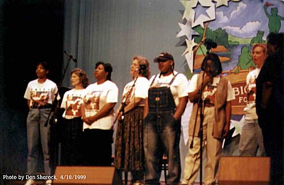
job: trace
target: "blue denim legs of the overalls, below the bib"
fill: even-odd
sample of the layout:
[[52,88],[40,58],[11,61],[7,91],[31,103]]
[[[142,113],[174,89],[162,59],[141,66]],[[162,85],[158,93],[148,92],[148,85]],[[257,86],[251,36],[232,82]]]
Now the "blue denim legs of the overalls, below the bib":
[[149,112],[143,124],[146,185],[160,185],[164,154],[168,158],[167,185],[177,185],[181,177],[180,120],[173,118],[172,111]]

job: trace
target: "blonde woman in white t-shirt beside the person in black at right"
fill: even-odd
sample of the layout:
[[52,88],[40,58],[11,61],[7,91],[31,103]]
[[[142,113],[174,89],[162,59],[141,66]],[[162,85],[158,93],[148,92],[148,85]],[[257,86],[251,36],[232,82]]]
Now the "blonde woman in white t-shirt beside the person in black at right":
[[244,108],[245,120],[241,129],[238,149],[240,156],[257,156],[257,153],[260,156],[265,156],[263,136],[256,110],[256,81],[266,59],[266,44],[254,44],[252,55],[257,67],[246,77],[247,105]]

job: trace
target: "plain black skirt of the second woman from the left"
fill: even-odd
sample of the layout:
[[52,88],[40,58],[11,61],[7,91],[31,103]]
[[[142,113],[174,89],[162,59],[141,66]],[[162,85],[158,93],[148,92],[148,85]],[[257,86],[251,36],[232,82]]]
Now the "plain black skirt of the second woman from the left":
[[61,143],[61,165],[79,165],[81,161],[81,137],[83,121],[81,118],[63,119]]

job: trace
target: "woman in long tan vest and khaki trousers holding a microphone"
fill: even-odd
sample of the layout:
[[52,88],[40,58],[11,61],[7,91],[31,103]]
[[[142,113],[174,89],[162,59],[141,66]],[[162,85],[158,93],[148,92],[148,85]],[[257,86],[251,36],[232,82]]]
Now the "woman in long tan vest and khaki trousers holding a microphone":
[[[218,174],[222,139],[226,137],[231,122],[231,101],[235,93],[230,81],[221,75],[219,57],[208,54],[201,66],[200,74],[195,74],[189,83],[189,101],[193,103],[189,119],[189,154],[185,159],[182,185],[193,185],[200,166],[200,113],[203,114],[203,142],[206,147],[205,185],[213,185]],[[203,82],[202,82],[203,81]],[[198,107],[201,92],[203,108]],[[196,118],[197,117],[197,118]],[[192,143],[193,142],[193,143]]]

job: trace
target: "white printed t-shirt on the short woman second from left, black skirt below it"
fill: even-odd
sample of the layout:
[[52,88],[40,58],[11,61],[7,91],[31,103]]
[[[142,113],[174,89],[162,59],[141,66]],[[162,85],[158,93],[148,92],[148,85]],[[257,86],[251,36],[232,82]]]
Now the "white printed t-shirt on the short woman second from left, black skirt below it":
[[80,107],[85,94],[85,89],[71,89],[64,94],[61,103],[61,108],[65,109],[62,115],[63,118],[73,119],[82,116]]

